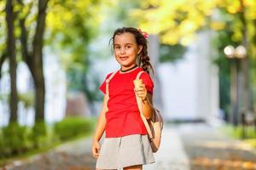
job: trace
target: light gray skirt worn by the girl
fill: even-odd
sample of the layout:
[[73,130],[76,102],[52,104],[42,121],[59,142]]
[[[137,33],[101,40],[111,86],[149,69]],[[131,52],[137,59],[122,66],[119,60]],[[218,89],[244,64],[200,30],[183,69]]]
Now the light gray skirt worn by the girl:
[[97,169],[119,169],[133,165],[154,163],[148,135],[132,134],[119,138],[106,138],[102,143]]

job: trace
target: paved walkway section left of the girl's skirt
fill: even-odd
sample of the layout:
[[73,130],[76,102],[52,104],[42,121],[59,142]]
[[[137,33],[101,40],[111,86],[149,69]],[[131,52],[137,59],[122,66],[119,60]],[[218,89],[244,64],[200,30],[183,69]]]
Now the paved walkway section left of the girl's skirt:
[[32,156],[15,161],[0,170],[91,170],[96,160],[90,155],[91,139],[79,139]]

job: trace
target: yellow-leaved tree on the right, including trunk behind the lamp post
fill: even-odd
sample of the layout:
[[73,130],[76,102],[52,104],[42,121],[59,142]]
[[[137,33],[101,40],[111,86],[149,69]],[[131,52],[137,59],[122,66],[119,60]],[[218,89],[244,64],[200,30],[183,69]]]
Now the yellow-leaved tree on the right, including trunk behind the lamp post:
[[142,9],[135,10],[133,15],[140,16],[140,26],[150,33],[159,34],[163,43],[187,45],[194,40],[197,31],[207,28],[230,32],[230,40],[233,43],[243,44],[248,55],[247,59],[241,61],[242,75],[245,79],[242,83],[241,91],[244,94],[240,108],[252,109],[253,102],[249,95],[249,71],[252,71],[252,68],[248,63],[255,60],[256,56],[255,1],[148,0],[143,1],[141,5]]

